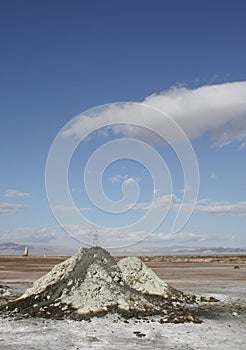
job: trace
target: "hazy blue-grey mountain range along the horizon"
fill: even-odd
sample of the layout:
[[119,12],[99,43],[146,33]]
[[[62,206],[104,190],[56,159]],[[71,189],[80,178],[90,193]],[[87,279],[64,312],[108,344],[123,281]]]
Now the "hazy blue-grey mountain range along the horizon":
[[[29,255],[72,255],[78,247],[64,247],[51,245],[28,245],[18,243],[0,244],[0,255],[23,255],[25,247],[29,249]],[[172,256],[209,256],[209,255],[246,255],[246,248],[224,248],[224,247],[138,247],[131,246],[121,249],[110,249],[113,255],[172,255]]]

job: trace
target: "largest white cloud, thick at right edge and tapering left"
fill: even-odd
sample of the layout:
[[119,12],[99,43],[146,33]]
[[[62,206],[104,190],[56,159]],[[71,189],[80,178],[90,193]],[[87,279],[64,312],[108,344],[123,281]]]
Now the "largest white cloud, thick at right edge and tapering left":
[[[129,123],[129,115],[135,115],[139,124],[153,125],[157,130],[165,128],[165,118],[159,114],[152,118],[151,110],[139,105],[149,105],[168,114],[184,129],[189,138],[200,137],[206,131],[218,146],[231,142],[246,141],[246,81],[202,86],[197,89],[174,87],[169,91],[153,94],[138,104],[116,105],[98,112],[93,117],[79,116],[75,122],[63,132],[63,136],[84,136],[92,129],[107,123],[115,124],[111,129],[123,133],[127,137],[137,137],[151,142],[157,141],[154,134]],[[136,120],[136,119],[135,119]],[[177,135],[173,135],[177,137]],[[158,139],[160,142],[160,139]],[[175,141],[175,140],[173,140]]]

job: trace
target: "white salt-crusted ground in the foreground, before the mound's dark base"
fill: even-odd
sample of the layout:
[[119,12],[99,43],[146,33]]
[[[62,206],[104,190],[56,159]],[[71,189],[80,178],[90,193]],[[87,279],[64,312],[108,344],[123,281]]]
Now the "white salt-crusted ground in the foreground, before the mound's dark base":
[[91,322],[0,318],[0,349],[245,349],[245,314],[204,318],[202,324],[160,324],[133,319],[128,322],[114,315],[93,318]]

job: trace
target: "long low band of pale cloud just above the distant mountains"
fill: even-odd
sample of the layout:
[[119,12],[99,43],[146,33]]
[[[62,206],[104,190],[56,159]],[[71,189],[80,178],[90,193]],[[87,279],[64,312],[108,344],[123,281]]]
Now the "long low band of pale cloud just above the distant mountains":
[[[142,242],[143,244],[159,245],[179,245],[186,243],[200,242],[225,242],[235,240],[237,237],[225,234],[206,234],[194,232],[181,233],[152,233],[147,235],[143,231],[124,230],[119,232],[117,229],[84,229],[76,225],[68,225],[68,228],[73,230],[74,236],[80,239],[85,244],[93,244],[95,235],[97,236],[98,244],[107,247],[121,247],[132,244],[132,242]],[[60,227],[21,227],[11,230],[0,231],[1,242],[18,242],[23,244],[30,243],[46,243],[59,242],[68,235]],[[142,250],[142,248],[141,248]]]

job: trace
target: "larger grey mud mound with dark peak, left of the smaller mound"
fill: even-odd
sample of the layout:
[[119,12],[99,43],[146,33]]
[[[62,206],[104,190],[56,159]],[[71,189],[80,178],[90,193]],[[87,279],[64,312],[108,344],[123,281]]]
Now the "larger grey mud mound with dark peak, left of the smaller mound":
[[82,320],[111,312],[127,318],[161,315],[163,322],[200,322],[179,302],[174,289],[164,297],[143,293],[124,275],[124,264],[118,266],[106,250],[81,248],[1,310],[9,316],[54,319]]

